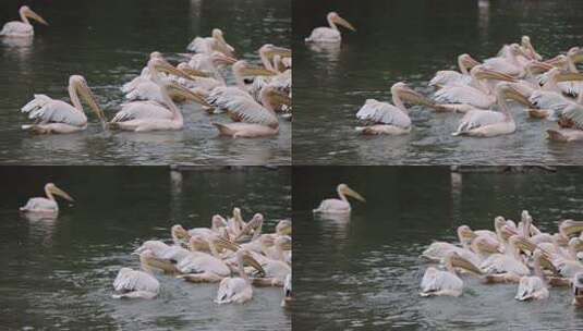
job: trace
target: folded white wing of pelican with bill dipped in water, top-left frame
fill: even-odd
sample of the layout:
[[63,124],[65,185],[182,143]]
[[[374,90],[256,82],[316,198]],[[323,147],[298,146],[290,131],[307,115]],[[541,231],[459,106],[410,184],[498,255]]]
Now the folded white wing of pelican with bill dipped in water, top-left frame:
[[26,103],[21,111],[28,113],[31,120],[38,120],[41,123],[65,123],[75,126],[83,126],[87,123],[87,117],[83,111],[46,95],[35,95],[35,98]]

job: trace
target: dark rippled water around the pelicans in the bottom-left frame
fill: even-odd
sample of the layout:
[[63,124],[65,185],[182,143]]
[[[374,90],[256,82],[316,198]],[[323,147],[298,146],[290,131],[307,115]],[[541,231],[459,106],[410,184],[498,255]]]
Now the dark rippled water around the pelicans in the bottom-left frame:
[[[263,212],[266,231],[291,213],[290,169],[170,172],[168,168],[1,167],[0,329],[291,330],[281,289],[254,289],[245,305],[212,303],[218,284],[158,275],[154,301],[111,298],[130,253],[168,238],[170,226],[208,226],[234,206]],[[76,203],[58,220],[27,221],[17,208],[52,181]]]

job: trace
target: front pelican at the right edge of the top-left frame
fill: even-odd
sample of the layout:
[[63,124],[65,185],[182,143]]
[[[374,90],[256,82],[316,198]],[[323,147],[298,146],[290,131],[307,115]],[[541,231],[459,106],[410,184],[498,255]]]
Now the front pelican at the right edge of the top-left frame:
[[233,138],[255,138],[274,136],[279,133],[279,120],[275,109],[280,105],[291,105],[291,99],[271,86],[260,91],[262,105],[248,97],[233,97],[224,108],[238,123],[212,122],[220,135]]

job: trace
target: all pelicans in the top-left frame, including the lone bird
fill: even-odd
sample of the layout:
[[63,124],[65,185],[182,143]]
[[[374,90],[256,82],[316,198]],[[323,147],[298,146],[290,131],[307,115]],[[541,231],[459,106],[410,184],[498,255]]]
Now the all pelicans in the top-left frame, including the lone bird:
[[[29,8],[20,10],[23,22],[7,23],[4,37],[32,37],[27,17],[45,20]],[[227,44],[222,30],[215,28],[210,37],[196,37],[187,46],[193,53],[175,66],[163,56],[151,52],[138,77],[124,84],[125,101],[108,122],[86,79],[69,78],[71,103],[35,95],[22,108],[33,124],[22,125],[38,134],[64,134],[83,131],[88,119],[82,101],[89,106],[104,130],[130,132],[183,130],[180,103],[196,102],[209,115],[227,113],[230,123],[212,121],[220,135],[231,137],[267,137],[279,134],[280,118],[291,120],[291,50],[271,44],[258,50],[262,65],[236,59],[234,48]],[[228,84],[232,76],[234,85]]]

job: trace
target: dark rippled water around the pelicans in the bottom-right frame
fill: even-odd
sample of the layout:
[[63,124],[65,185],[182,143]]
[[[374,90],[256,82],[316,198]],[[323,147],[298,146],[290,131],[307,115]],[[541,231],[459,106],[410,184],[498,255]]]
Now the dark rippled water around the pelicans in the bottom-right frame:
[[[581,169],[557,173],[470,173],[448,168],[297,168],[293,173],[293,327],[299,330],[581,330],[583,312],[567,289],[546,302],[514,301],[518,285],[464,278],[461,297],[422,298],[433,241],[456,242],[456,229],[493,229],[496,216],[530,210],[543,231],[581,219]],[[367,198],[350,221],[314,219],[312,208],[339,182]],[[294,306],[295,307],[295,306]]]

